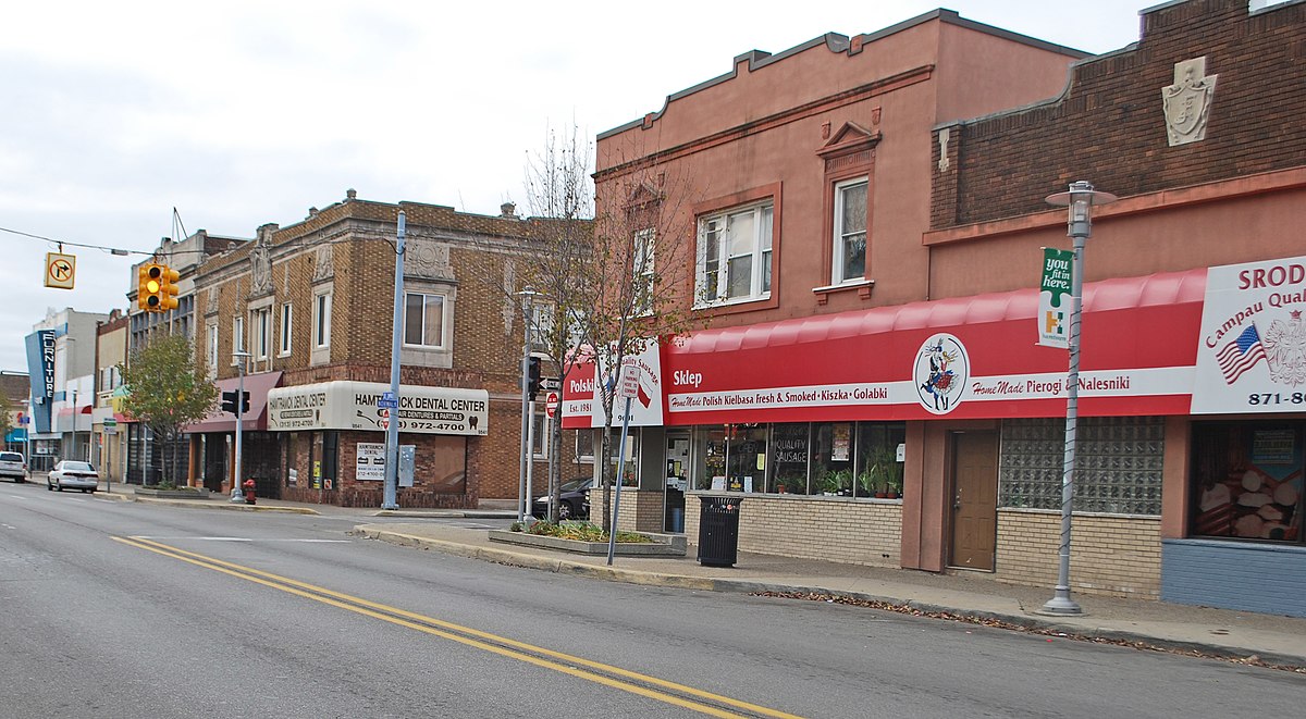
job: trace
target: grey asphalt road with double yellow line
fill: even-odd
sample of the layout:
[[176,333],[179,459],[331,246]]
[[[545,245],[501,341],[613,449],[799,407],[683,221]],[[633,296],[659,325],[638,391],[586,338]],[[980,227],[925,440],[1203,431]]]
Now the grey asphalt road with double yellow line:
[[362,521],[0,485],[0,716],[1190,719],[1306,706],[1306,676],[1289,672],[505,568],[349,536]]

